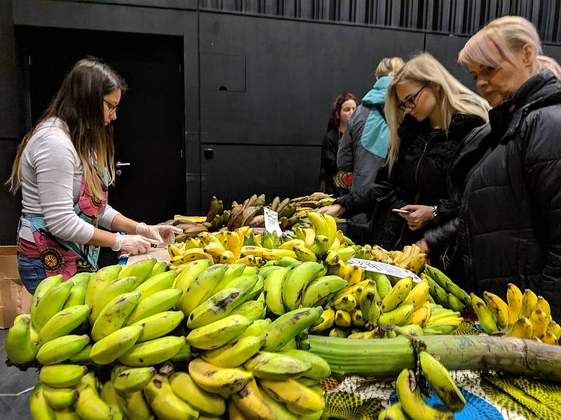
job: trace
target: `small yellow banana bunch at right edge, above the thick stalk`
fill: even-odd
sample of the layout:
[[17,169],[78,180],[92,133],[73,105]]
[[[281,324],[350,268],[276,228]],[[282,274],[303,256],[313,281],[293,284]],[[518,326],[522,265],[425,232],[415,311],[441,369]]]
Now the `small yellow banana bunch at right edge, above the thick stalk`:
[[549,303],[532,290],[524,293],[508,283],[506,300],[494,293],[483,292],[483,299],[471,293],[473,309],[487,334],[506,334],[511,337],[534,339],[546,344],[557,344],[561,326],[551,318]]

